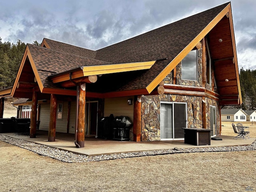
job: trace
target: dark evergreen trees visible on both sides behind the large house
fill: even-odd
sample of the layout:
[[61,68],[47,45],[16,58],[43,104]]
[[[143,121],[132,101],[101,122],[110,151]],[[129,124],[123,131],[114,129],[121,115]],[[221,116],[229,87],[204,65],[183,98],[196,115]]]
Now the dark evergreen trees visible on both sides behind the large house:
[[[34,41],[34,45],[40,43]],[[0,89],[14,84],[26,44],[17,40],[16,44],[2,42],[0,38]],[[240,85],[242,93],[242,109],[256,110],[256,70],[243,68],[240,70]],[[234,106],[236,108],[238,106]],[[240,106],[239,106],[240,107]]]

